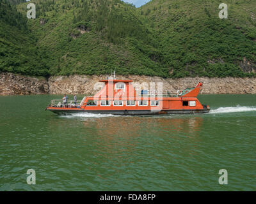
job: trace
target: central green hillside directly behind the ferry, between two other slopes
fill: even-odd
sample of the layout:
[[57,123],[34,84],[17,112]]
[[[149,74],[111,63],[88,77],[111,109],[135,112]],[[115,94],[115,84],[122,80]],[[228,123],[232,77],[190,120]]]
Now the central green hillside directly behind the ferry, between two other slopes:
[[[150,55],[158,53],[154,34],[122,1],[36,1],[36,20],[28,20],[46,47],[51,75],[109,74],[161,75],[166,71]],[[26,4],[19,5],[26,10]],[[41,24],[40,24],[41,20]]]

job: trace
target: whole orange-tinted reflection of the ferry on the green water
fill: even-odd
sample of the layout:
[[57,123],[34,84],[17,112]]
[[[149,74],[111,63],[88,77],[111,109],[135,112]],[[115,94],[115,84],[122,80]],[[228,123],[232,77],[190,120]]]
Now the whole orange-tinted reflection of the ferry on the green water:
[[[92,119],[83,120],[84,127],[92,126]],[[189,143],[193,144],[192,148],[184,149],[184,152],[195,154],[202,122],[201,117],[109,117],[107,120],[96,118],[93,119],[93,128],[96,130],[93,136],[97,135],[94,156],[124,165],[130,158],[139,154],[141,143],[146,147],[143,151],[147,152],[156,150],[156,147],[162,149],[162,142],[166,138],[172,138],[172,145],[179,147],[182,145],[179,142],[180,136],[190,138]],[[168,149],[172,152],[170,147]],[[150,157],[157,158],[154,154]]]

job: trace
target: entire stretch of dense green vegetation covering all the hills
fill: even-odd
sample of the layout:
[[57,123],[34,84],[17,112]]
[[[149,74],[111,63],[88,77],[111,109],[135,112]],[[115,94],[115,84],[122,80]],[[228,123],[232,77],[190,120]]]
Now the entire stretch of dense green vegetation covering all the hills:
[[27,19],[28,3],[0,0],[0,71],[255,76],[256,1],[226,2],[228,19],[215,0],[36,0]]

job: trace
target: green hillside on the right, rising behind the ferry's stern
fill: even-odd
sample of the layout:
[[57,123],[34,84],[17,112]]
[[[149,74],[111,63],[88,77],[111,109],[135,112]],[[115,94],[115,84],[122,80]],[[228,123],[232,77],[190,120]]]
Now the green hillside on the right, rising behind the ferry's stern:
[[[256,71],[256,1],[152,0],[140,8],[173,77],[244,77]],[[253,71],[254,70],[254,71]]]

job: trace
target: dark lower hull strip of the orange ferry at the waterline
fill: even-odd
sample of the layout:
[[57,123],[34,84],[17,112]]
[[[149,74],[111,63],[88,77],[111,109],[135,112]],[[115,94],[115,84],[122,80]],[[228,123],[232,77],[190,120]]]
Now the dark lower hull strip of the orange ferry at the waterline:
[[195,113],[209,113],[210,109],[199,110],[54,110],[47,109],[58,115],[71,115],[73,113],[93,113],[93,114],[111,114],[111,115],[171,115],[171,114],[195,114]]

